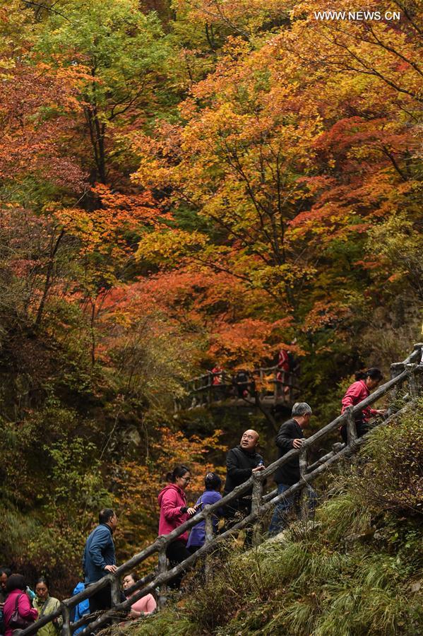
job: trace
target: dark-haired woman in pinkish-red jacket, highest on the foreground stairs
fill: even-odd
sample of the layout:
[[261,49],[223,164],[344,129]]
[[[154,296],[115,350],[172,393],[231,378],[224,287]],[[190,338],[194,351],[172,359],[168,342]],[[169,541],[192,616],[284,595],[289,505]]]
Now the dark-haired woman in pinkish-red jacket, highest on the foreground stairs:
[[[347,388],[345,392],[345,396],[342,398],[342,411],[345,411],[347,406],[356,406],[359,402],[363,401],[370,395],[370,391],[372,389],[376,389],[379,382],[383,379],[383,375],[381,374],[379,369],[372,367],[367,371],[359,371],[355,374],[355,382],[353,382],[350,387]],[[355,423],[357,425],[357,435],[358,437],[362,437],[365,432],[369,430],[369,426],[367,425],[368,421],[376,416],[383,415],[386,413],[383,409],[375,409],[370,408],[370,406],[366,406],[363,408],[361,413],[357,413],[355,416]],[[340,428],[340,432],[342,435],[342,440],[344,440],[345,444],[347,443],[347,425],[342,424]]]

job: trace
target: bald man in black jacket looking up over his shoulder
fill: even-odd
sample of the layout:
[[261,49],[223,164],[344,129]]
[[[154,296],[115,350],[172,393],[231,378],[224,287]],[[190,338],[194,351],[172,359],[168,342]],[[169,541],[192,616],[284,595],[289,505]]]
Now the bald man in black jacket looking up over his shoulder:
[[[232,493],[232,490],[249,479],[252,473],[263,471],[264,461],[256,450],[257,444],[258,432],[249,429],[242,434],[239,446],[228,452],[224,496]],[[244,515],[249,514],[251,512],[251,493],[252,490],[248,490],[242,497],[225,506],[225,517],[234,519],[234,517],[244,517]]]

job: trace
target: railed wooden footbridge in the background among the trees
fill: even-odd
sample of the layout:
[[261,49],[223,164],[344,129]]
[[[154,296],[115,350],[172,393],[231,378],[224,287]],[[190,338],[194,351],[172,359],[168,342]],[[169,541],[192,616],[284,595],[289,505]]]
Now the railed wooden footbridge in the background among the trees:
[[194,377],[186,382],[184,397],[175,400],[175,412],[205,406],[286,406],[292,408],[299,397],[299,375],[279,367],[259,367],[246,371],[247,382],[237,382],[237,374],[226,371]]

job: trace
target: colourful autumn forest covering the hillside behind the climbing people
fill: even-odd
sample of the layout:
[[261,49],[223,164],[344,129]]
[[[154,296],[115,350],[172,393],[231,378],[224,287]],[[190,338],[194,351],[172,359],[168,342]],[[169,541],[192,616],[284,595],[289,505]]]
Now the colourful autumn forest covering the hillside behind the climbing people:
[[273,459],[186,380],[287,346],[318,427],[419,341],[422,6],[333,4],[0,1],[0,552],[63,595],[102,505],[122,560],[176,462]]

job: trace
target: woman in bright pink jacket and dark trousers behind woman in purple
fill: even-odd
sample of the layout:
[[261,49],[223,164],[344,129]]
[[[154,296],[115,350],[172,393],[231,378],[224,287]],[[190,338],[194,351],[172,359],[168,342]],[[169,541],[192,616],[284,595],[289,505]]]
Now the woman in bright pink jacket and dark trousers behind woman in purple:
[[[197,511],[195,506],[186,505],[185,489],[191,481],[189,469],[186,466],[176,466],[172,473],[167,473],[167,479],[169,483],[160,491],[158,497],[160,505],[159,534],[169,534]],[[180,534],[167,546],[166,556],[171,567],[191,556],[191,553],[186,549],[186,541],[188,541],[188,532]],[[169,587],[179,588],[183,577],[183,574],[174,577],[169,581]]]

